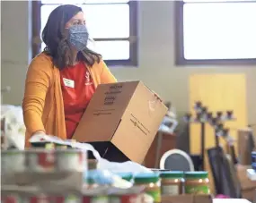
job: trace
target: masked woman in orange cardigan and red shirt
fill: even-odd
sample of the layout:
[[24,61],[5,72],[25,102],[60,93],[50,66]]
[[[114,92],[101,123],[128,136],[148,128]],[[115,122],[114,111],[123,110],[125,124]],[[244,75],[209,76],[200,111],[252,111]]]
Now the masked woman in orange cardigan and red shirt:
[[72,139],[97,86],[117,80],[99,55],[87,48],[84,13],[75,5],[60,5],[42,32],[44,51],[31,62],[22,103],[25,147],[35,133]]

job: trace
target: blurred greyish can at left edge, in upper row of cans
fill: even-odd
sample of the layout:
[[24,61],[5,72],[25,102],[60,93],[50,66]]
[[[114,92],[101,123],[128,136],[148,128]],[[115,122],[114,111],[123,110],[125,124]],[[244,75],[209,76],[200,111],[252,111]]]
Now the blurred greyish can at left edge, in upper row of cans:
[[22,173],[26,171],[25,153],[22,150],[9,149],[1,151],[1,172]]

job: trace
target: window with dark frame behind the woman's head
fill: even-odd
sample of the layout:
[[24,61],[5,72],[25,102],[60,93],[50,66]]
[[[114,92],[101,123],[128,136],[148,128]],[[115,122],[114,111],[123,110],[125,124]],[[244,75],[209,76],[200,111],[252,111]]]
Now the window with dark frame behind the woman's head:
[[33,55],[45,47],[41,31],[60,4],[82,7],[90,38],[89,47],[109,65],[137,66],[137,2],[128,0],[33,1]]

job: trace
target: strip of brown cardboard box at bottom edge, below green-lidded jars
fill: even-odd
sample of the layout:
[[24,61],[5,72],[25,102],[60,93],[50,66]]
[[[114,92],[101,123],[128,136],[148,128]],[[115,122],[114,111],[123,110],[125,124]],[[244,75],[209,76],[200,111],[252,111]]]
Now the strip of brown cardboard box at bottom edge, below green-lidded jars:
[[162,203],[212,203],[210,195],[162,196]]

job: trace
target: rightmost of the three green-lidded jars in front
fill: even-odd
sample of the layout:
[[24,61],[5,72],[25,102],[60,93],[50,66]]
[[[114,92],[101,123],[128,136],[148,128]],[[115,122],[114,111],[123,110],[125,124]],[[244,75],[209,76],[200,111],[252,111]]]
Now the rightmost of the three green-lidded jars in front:
[[207,172],[185,173],[184,189],[186,194],[210,194]]

